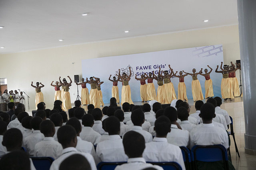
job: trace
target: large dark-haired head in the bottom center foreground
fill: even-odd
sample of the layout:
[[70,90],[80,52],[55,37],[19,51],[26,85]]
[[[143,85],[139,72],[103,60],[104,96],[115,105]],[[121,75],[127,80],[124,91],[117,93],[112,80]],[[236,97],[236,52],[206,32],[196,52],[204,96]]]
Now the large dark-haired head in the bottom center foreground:
[[123,145],[124,152],[129,158],[138,158],[145,149],[145,139],[136,131],[128,131],[123,136]]

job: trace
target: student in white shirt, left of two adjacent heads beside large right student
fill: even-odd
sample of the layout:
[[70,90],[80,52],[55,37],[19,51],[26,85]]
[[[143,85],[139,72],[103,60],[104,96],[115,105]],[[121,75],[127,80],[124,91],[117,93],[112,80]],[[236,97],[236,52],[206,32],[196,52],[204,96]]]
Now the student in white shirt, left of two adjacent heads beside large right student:
[[167,134],[167,141],[173,145],[177,145],[179,147],[189,146],[189,131],[182,130],[178,123],[176,122],[178,119],[178,113],[174,107],[166,107],[164,109],[164,115],[167,116],[172,125],[171,125],[171,132]]

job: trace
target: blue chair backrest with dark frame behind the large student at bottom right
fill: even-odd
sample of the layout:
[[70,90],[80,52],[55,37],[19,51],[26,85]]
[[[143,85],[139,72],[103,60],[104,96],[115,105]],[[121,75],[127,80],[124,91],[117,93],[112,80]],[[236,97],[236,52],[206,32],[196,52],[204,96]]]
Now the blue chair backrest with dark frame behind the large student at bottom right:
[[194,169],[197,169],[197,162],[224,162],[224,169],[228,170],[228,152],[222,145],[202,146],[196,145],[191,149],[191,158],[194,162]]

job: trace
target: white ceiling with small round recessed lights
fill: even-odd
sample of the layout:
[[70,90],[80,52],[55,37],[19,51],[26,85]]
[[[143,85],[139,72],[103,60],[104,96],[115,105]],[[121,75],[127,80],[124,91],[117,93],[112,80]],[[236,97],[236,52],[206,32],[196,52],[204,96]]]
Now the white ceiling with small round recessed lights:
[[236,24],[236,0],[0,0],[0,54]]

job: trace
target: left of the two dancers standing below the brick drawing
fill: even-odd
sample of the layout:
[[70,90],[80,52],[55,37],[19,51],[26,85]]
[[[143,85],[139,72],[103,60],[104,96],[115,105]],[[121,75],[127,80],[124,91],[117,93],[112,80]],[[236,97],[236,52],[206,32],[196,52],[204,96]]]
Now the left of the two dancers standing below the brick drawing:
[[192,76],[192,96],[193,96],[194,102],[204,99],[201,84],[200,84],[199,80],[197,79],[197,75],[199,73],[202,73],[202,70],[203,70],[203,68],[201,68],[201,70],[199,72],[196,72],[196,68],[193,68],[192,74],[184,72],[184,70],[182,70],[184,73]]

